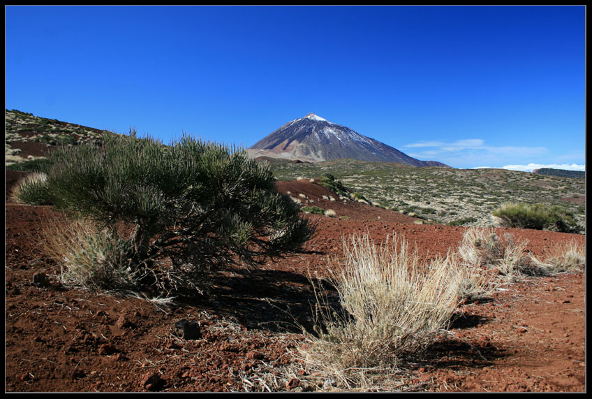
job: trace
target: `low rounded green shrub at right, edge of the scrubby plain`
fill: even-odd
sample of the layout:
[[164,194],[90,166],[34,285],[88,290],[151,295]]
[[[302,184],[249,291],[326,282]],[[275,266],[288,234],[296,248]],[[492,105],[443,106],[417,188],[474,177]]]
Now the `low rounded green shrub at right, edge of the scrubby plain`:
[[505,203],[491,213],[501,226],[537,230],[573,232],[577,229],[574,215],[558,205],[542,203]]

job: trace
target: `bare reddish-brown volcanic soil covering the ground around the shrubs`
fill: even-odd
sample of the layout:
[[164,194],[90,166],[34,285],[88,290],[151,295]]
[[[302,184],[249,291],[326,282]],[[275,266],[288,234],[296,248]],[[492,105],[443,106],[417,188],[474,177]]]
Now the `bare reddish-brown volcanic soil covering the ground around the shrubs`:
[[[6,194],[22,175],[6,173]],[[7,199],[5,391],[323,391],[323,381],[314,385],[313,370],[293,356],[303,342],[297,326],[310,322],[308,273],[323,275],[327,258],[341,254],[341,237],[352,233],[369,233],[376,242],[404,235],[431,256],[456,249],[464,232],[324,200],[335,195],[306,180],[277,186],[337,217],[308,216],[318,228],[304,252],[212,275],[213,289],[169,304],[60,284],[59,268],[38,245],[40,223],[55,211]],[[528,239],[535,255],[558,242],[585,244],[583,235],[500,233]],[[49,276],[47,285],[33,284],[38,272]],[[452,328],[406,365],[399,390],[586,391],[585,289],[584,272],[564,273],[508,284],[491,300],[460,305]],[[195,321],[196,339],[179,337],[175,324],[182,319]],[[290,364],[293,376],[277,372]]]

